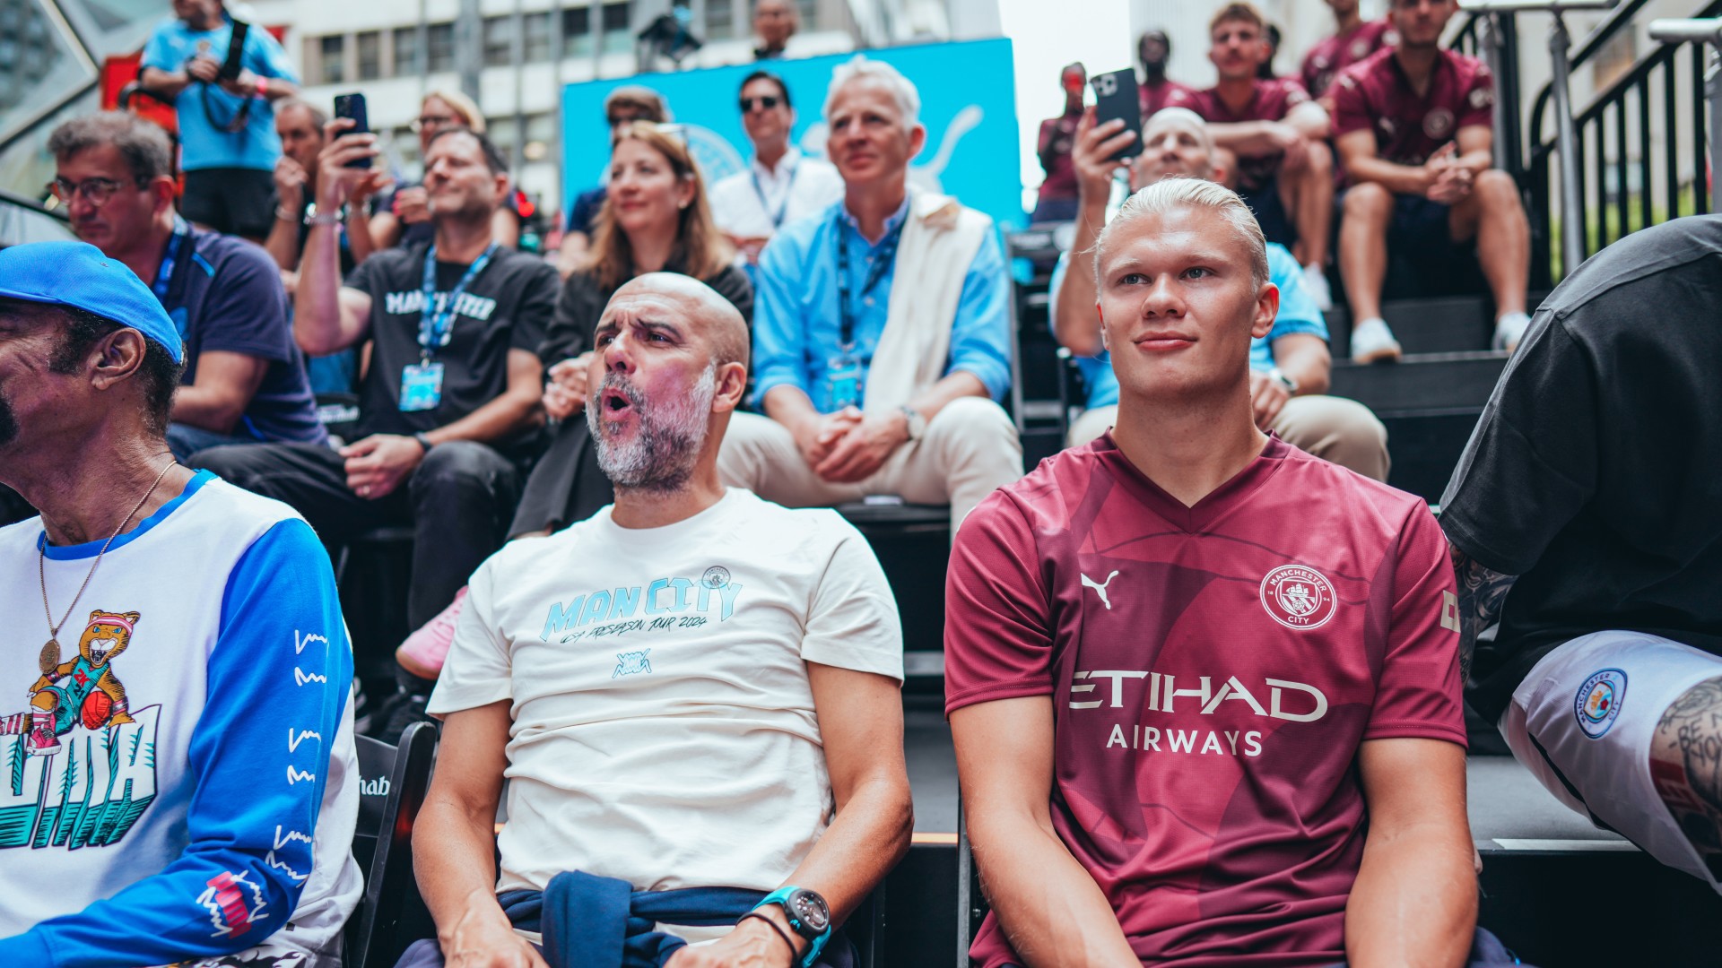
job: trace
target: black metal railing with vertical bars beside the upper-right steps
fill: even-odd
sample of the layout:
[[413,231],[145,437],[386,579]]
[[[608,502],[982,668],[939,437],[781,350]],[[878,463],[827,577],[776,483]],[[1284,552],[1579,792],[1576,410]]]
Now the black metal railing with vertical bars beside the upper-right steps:
[[[1620,31],[1632,29],[1632,16],[1648,0],[1627,0],[1591,31],[1569,55],[1569,67],[1579,67]],[[1722,12],[1722,0],[1712,2],[1700,16]],[[1686,71],[1691,78],[1689,98],[1681,93],[1682,69],[1677,64],[1688,50]],[[1608,88],[1572,112],[1574,148],[1558,160],[1562,167],[1560,233],[1576,239],[1562,246],[1558,272],[1552,258],[1555,212],[1552,189],[1552,155],[1560,150],[1560,96],[1546,84],[1531,105],[1529,215],[1533,286],[1550,286],[1570,272],[1577,262],[1636,229],[1703,214],[1710,208],[1708,188],[1701,177],[1705,164],[1705,47],[1674,43],[1646,53]],[[1689,102],[1689,117],[1681,124],[1681,102]],[[1543,140],[1543,121],[1555,102],[1557,133]],[[1682,138],[1688,133],[1693,177],[1681,181]],[[1658,143],[1657,134],[1662,134]],[[1636,158],[1634,158],[1636,153]],[[1660,158],[1658,158],[1660,155]],[[1660,179],[1662,193],[1655,184]],[[1632,191],[1636,183],[1636,191]],[[1610,191],[1612,189],[1612,191]],[[1691,191],[1689,203],[1684,198]]]

